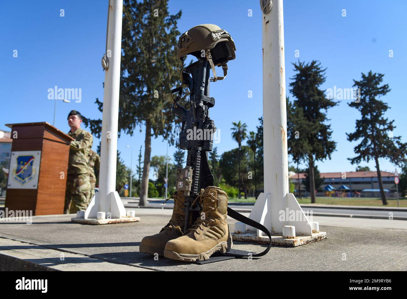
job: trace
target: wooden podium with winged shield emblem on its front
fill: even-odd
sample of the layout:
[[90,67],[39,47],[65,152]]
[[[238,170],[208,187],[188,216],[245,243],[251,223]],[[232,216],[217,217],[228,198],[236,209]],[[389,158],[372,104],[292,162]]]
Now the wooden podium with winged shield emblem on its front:
[[5,208],[32,215],[63,214],[70,142],[47,122],[7,124],[11,158]]

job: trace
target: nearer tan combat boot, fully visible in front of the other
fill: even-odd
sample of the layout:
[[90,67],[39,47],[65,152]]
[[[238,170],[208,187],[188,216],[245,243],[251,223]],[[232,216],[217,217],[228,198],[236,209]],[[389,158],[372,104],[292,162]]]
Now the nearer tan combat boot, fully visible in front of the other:
[[173,260],[195,262],[208,260],[217,251],[225,253],[232,247],[232,235],[227,223],[228,195],[221,188],[208,186],[201,189],[202,209],[195,224],[186,233],[168,241],[164,256]]

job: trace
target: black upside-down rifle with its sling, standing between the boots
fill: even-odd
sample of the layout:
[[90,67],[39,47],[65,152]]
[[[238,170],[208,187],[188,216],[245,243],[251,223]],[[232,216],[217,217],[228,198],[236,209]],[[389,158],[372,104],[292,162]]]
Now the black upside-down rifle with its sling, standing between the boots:
[[[193,220],[195,220],[198,217],[198,211],[201,209],[199,202],[193,204],[199,190],[202,187],[206,188],[214,185],[214,178],[208,165],[208,152],[212,151],[213,133],[216,132],[214,122],[209,117],[209,108],[212,108],[215,104],[215,99],[209,96],[209,76],[210,64],[205,59],[190,64],[182,71],[182,85],[186,85],[190,90],[191,107],[189,110],[186,110],[178,103],[182,96],[182,85],[171,91],[171,93],[178,92],[177,98],[173,99],[173,114],[182,120],[182,128],[179,133],[179,148],[188,150],[186,167],[177,169],[178,179],[175,187],[177,192],[184,192],[185,196],[184,233],[189,228],[191,212],[193,212]],[[197,132],[198,134],[200,132],[203,138],[197,138]],[[190,138],[191,134],[193,138]],[[267,228],[229,207],[228,215],[267,234],[270,238],[269,246],[260,254],[254,253],[252,256],[267,254],[271,247],[271,235]],[[242,257],[247,256],[247,254],[247,251],[231,250],[225,255]]]

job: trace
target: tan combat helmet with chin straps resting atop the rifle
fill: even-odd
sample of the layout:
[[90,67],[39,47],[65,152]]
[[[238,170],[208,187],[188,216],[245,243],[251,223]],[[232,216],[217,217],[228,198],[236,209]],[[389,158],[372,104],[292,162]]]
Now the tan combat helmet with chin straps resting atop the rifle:
[[[223,80],[226,77],[228,61],[236,55],[236,46],[230,34],[214,24],[202,24],[192,27],[179,37],[177,56],[184,61],[186,55],[191,54],[198,59],[206,58],[210,63],[214,77],[210,81]],[[217,77],[215,66],[221,66],[223,77]]]

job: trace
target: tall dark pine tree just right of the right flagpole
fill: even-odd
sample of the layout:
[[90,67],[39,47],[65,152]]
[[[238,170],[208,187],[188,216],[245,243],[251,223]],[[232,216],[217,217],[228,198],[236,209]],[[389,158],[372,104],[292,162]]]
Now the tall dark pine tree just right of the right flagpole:
[[296,98],[294,103],[303,113],[300,139],[304,142],[305,159],[308,160],[311,203],[315,203],[315,161],[330,159],[336,148],[336,142],[331,139],[330,125],[326,124],[329,120],[326,111],[337,102],[326,98],[324,91],[319,89],[326,80],[326,69],[322,69],[321,63],[299,61],[293,65],[295,75],[291,78],[290,91]]

